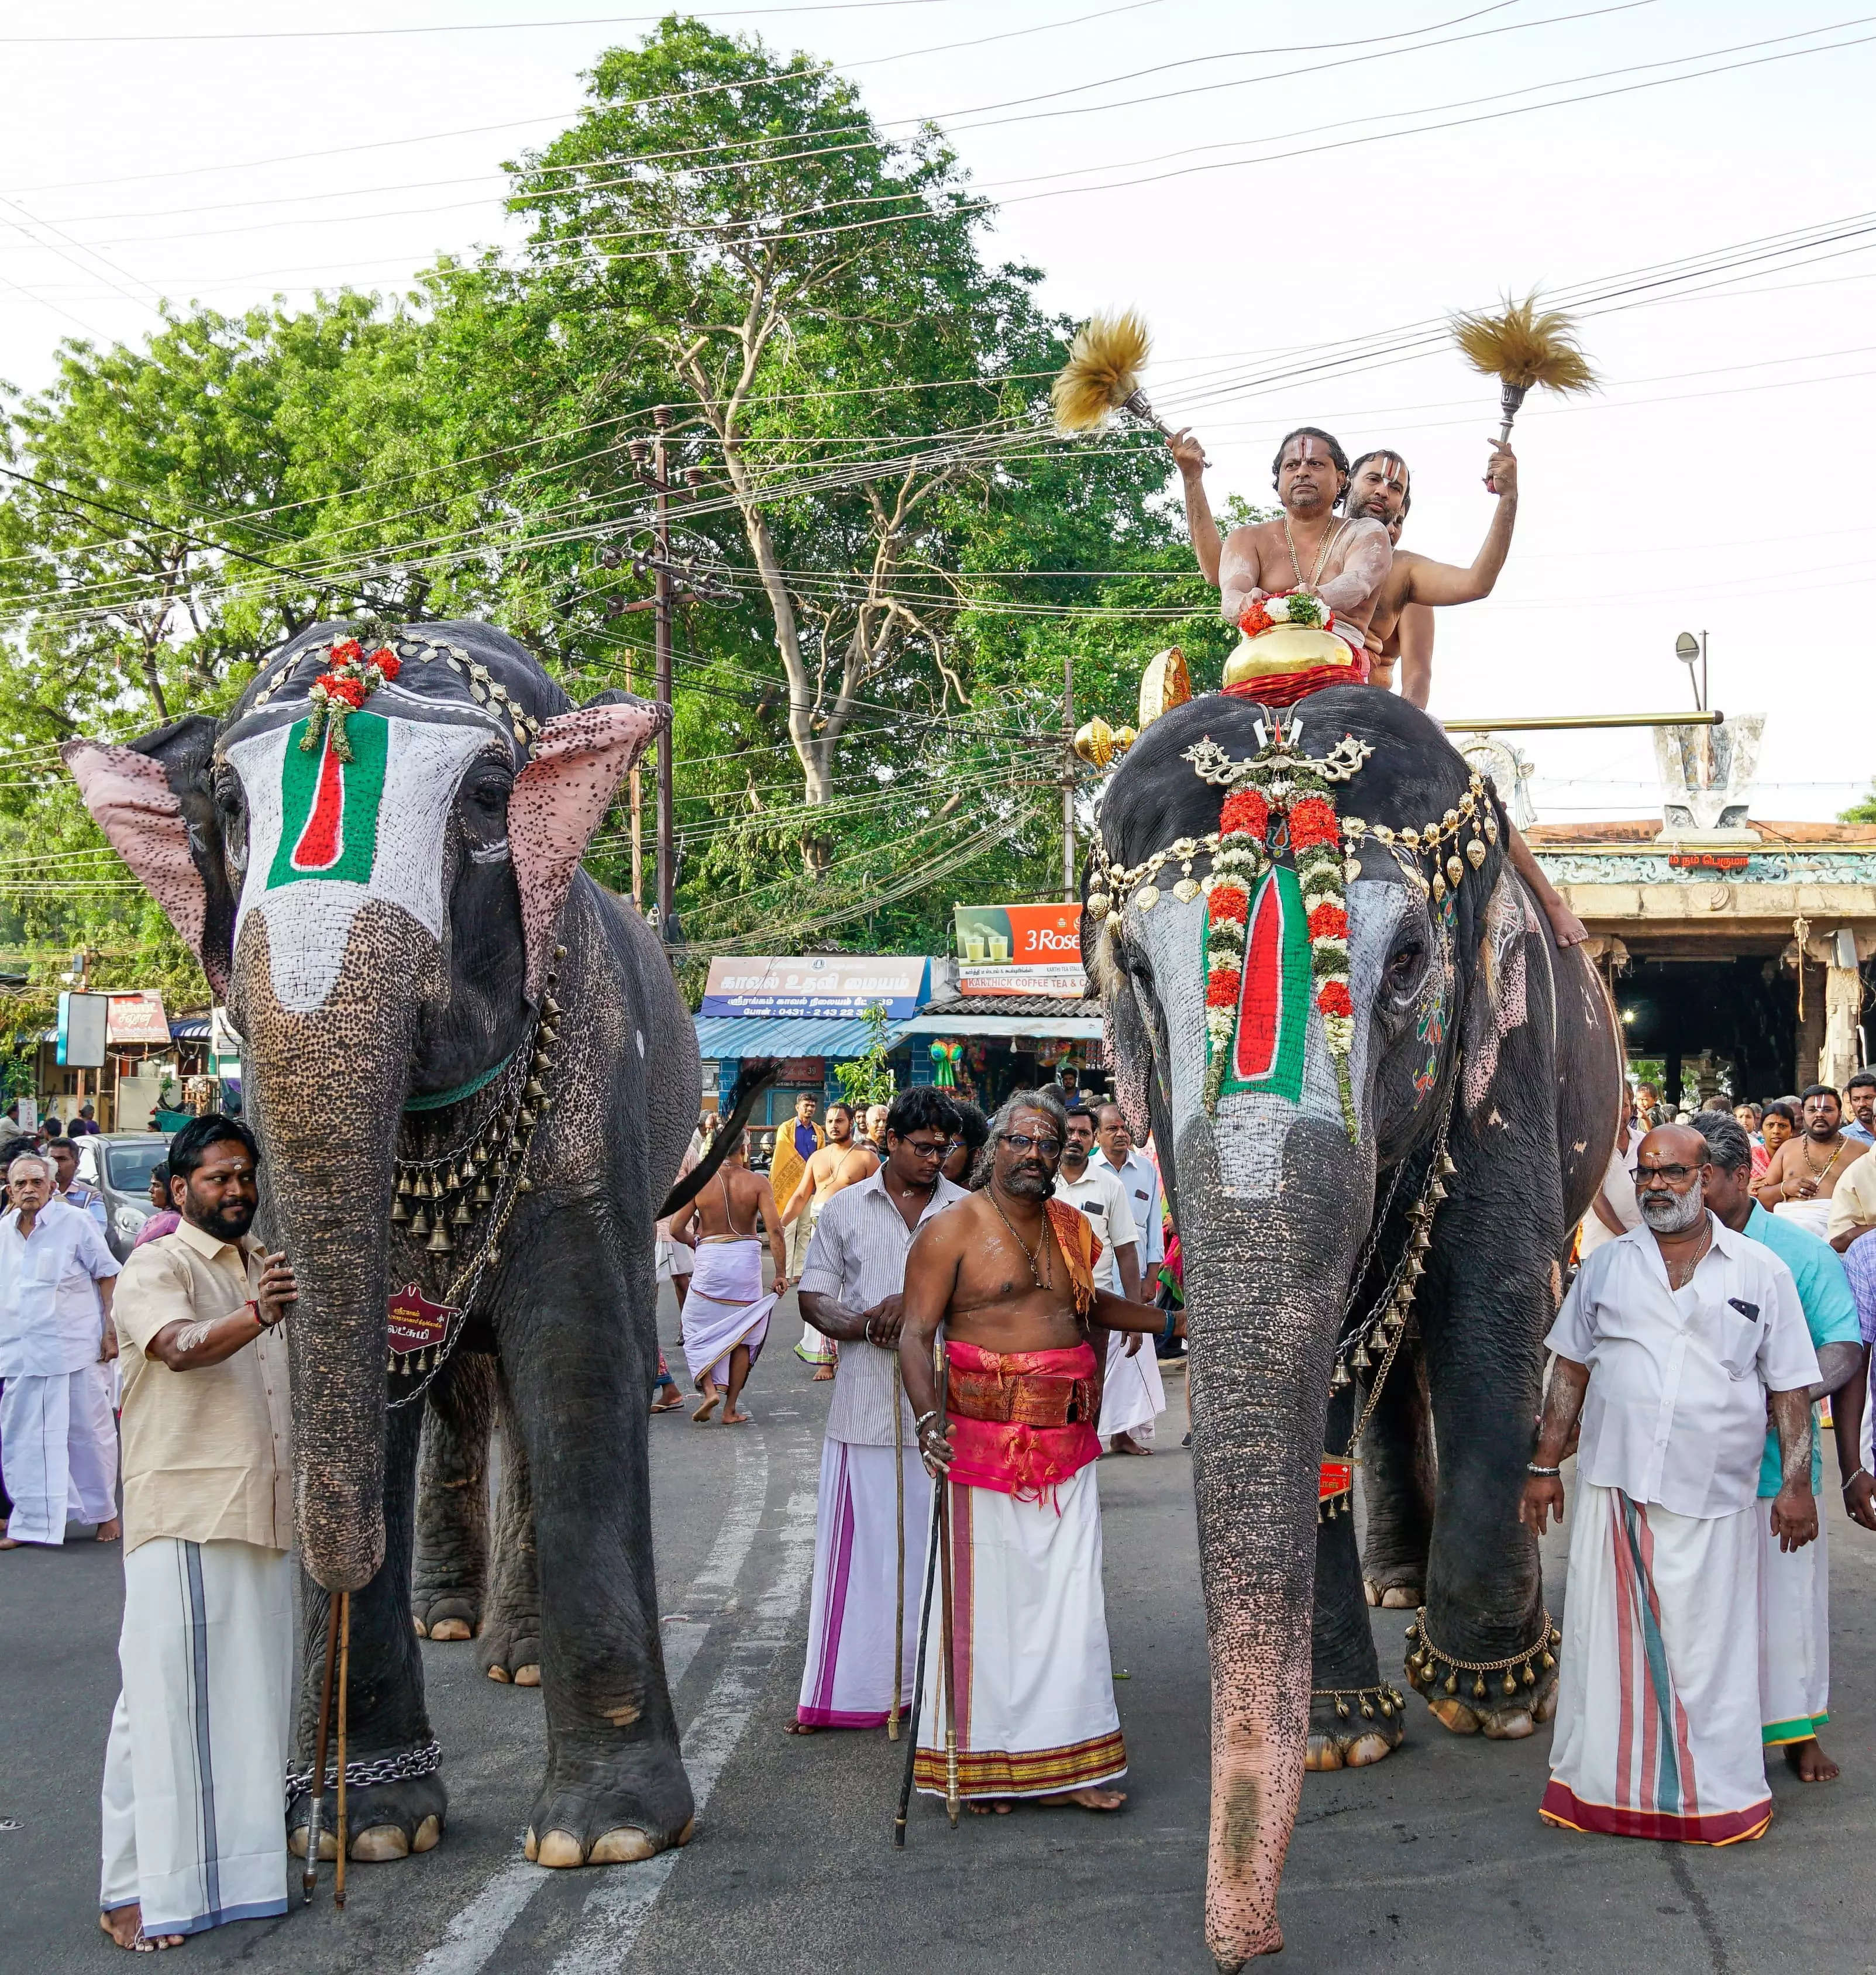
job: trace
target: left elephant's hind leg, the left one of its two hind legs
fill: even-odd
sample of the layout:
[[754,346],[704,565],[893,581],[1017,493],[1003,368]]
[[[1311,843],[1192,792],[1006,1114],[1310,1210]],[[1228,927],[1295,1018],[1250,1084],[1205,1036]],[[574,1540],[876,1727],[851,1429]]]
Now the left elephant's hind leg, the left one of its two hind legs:
[[411,1618],[419,1639],[474,1639],[482,1629],[494,1414],[494,1357],[458,1351],[430,1382],[417,1458]]

